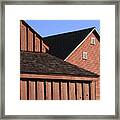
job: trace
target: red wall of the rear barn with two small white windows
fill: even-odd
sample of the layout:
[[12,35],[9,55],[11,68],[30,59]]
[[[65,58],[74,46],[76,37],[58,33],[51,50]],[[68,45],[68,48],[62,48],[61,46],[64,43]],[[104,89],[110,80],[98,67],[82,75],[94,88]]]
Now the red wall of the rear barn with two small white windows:
[[[100,42],[95,41],[95,45],[91,45],[90,38],[96,36],[91,33],[88,38],[81,44],[66,61],[84,68],[88,71],[100,74]],[[83,52],[87,52],[87,59],[83,59]],[[100,80],[96,83],[97,99],[100,99]]]

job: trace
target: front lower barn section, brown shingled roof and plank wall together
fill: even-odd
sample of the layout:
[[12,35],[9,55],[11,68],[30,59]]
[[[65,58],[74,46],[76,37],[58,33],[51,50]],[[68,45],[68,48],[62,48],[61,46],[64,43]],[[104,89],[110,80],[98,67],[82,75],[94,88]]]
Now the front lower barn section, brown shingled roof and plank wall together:
[[21,99],[96,99],[98,75],[48,53],[21,52]]

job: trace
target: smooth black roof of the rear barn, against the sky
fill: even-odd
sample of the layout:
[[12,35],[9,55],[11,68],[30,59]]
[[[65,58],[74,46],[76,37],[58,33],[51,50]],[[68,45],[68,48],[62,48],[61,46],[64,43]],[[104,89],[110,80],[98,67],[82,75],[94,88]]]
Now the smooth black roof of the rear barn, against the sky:
[[[49,53],[51,55],[64,60],[94,28],[44,37],[43,41],[49,46]],[[99,40],[100,36],[96,30],[93,32]]]

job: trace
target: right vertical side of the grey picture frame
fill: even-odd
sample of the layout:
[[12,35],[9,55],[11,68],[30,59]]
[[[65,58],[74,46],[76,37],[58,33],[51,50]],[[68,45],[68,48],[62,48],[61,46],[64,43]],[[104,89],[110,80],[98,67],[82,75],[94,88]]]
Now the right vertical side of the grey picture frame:
[[115,114],[120,118],[120,2],[115,7]]

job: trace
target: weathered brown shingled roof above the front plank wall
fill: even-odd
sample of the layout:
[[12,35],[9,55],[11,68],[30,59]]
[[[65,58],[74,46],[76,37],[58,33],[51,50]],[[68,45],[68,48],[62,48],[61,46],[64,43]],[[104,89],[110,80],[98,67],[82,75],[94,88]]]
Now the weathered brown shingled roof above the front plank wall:
[[20,53],[20,72],[98,77],[95,73],[78,68],[48,53],[22,51]]

